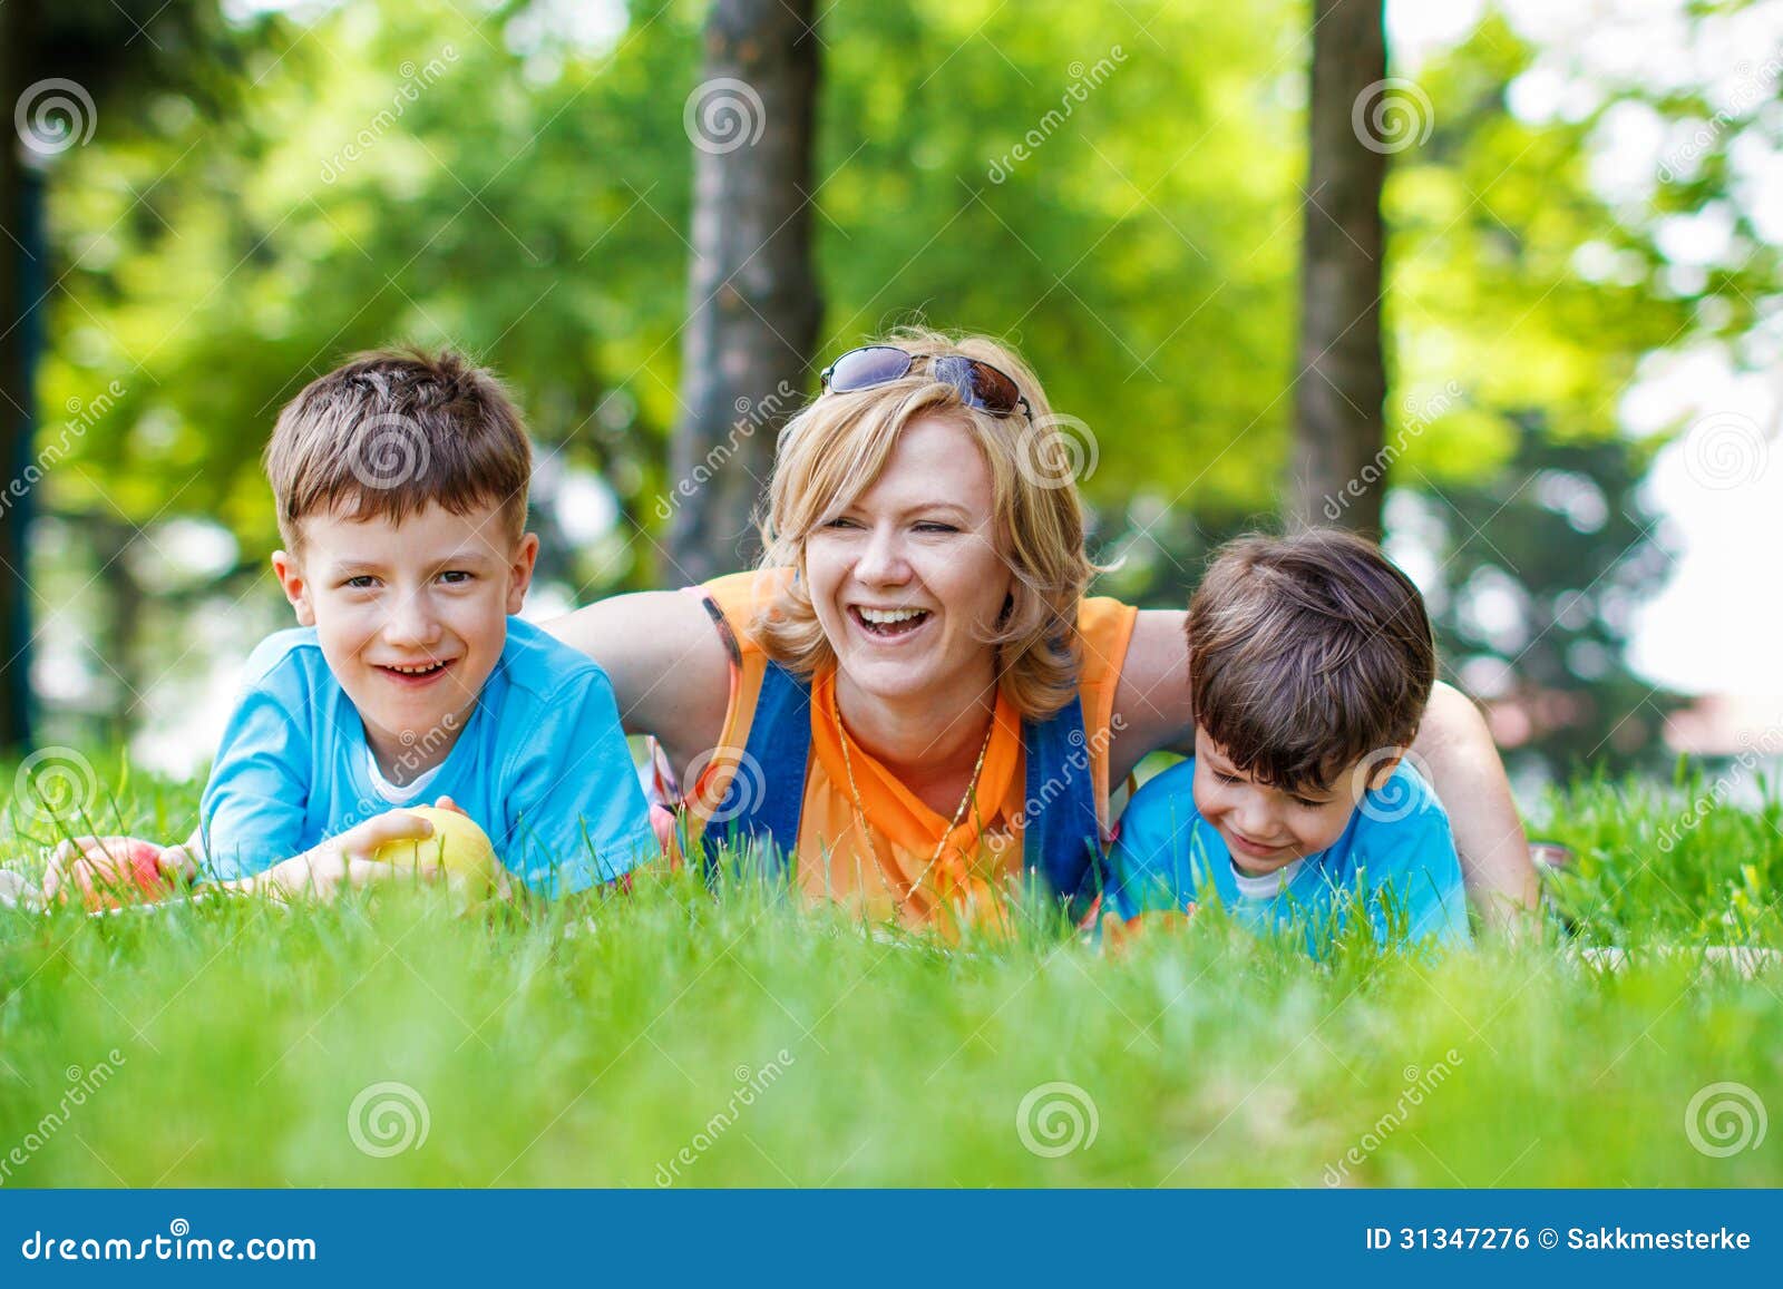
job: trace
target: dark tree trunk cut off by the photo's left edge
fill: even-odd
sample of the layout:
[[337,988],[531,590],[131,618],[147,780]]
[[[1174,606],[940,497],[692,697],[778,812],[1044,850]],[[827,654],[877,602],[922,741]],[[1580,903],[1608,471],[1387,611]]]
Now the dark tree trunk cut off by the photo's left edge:
[[41,185],[21,164],[12,107],[20,102],[32,66],[32,0],[0,4],[0,758],[30,747],[30,585],[27,581],[27,528],[30,490],[25,467],[32,440],[32,369],[39,339],[43,294]]

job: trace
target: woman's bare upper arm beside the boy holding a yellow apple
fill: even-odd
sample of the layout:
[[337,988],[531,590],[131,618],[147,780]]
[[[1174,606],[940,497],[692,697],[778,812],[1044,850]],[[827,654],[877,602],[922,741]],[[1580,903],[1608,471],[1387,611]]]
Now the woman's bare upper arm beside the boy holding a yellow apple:
[[699,595],[613,595],[542,626],[601,665],[626,733],[654,735],[676,772],[717,745],[731,669]]

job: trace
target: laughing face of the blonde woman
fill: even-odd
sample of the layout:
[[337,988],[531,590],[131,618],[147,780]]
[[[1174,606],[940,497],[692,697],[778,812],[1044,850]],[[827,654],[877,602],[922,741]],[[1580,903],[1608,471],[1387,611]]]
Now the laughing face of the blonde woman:
[[908,424],[874,485],[806,538],[804,560],[854,686],[904,699],[982,683],[1013,576],[997,553],[990,465],[965,428]]

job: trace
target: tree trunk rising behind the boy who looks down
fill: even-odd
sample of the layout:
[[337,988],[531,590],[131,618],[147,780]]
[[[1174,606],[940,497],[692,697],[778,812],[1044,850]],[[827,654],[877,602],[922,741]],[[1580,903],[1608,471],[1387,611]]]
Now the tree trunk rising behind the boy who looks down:
[[[1296,524],[1380,533],[1387,371],[1380,342],[1387,152],[1369,116],[1387,77],[1382,0],[1314,0],[1309,178],[1289,506]],[[1376,460],[1380,458],[1380,460]]]

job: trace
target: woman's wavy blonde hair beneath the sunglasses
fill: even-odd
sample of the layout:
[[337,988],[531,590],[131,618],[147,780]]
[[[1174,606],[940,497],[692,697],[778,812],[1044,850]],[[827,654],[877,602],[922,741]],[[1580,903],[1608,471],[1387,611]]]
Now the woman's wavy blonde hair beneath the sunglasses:
[[770,658],[809,676],[836,654],[811,606],[806,538],[870,489],[913,421],[943,415],[966,430],[991,471],[997,551],[1015,574],[1011,603],[986,640],[997,649],[998,685],[1023,718],[1045,718],[1077,694],[1077,603],[1097,565],[1084,553],[1084,512],[1075,464],[1084,444],[1061,431],[1034,373],[1013,349],[981,335],[900,328],[883,344],[915,355],[959,353],[1011,376],[1029,415],[991,415],[965,403],[918,362],[909,374],[852,394],[820,394],[786,423],[774,456],[761,526],[761,567],[799,569],[758,613],[751,631]]

